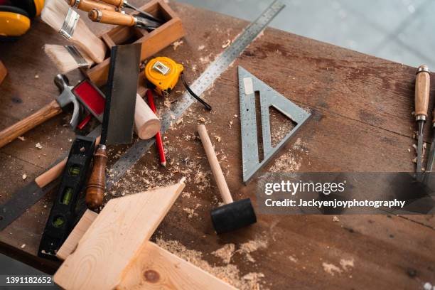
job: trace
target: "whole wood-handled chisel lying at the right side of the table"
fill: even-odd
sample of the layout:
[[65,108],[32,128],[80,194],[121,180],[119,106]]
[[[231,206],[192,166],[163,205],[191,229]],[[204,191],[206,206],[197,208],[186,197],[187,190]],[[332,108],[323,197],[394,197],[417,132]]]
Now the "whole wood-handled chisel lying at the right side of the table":
[[[420,65],[417,69],[415,78],[415,120],[418,124],[417,142],[417,173],[422,171],[423,159],[423,128],[427,119],[427,109],[429,106],[430,75],[426,65]],[[419,179],[421,175],[417,176]]]

